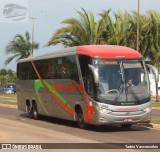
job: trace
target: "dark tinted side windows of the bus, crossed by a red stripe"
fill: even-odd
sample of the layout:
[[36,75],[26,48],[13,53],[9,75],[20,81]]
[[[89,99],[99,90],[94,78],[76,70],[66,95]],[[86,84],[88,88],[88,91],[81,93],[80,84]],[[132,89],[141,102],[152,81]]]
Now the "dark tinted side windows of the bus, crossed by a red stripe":
[[[75,56],[36,60],[34,63],[43,79],[72,79],[79,82]],[[22,80],[38,79],[31,62],[19,63],[17,76]]]

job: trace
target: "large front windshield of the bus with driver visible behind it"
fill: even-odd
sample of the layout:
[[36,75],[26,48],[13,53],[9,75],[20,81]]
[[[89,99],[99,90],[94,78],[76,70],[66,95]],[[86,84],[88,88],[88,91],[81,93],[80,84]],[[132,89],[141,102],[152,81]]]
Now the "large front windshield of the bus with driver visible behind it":
[[99,102],[135,105],[150,101],[148,75],[142,60],[99,59],[95,63],[99,72]]

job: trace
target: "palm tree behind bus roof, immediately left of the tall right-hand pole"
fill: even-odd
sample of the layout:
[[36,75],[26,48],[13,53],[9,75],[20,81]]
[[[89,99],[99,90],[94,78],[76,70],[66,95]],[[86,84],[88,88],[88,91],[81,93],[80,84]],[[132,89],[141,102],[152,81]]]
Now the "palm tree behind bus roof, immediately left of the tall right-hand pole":
[[106,44],[136,48],[136,18],[127,11],[118,11],[111,16],[110,11],[99,14],[104,27],[102,37]]

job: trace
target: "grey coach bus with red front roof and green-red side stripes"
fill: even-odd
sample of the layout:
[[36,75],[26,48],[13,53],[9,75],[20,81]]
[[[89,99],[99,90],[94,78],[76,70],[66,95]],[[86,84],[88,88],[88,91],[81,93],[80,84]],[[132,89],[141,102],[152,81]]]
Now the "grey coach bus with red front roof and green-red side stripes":
[[[84,45],[17,63],[18,109],[30,118],[52,116],[88,124],[150,122],[148,68],[157,69],[128,47]],[[126,85],[127,81],[132,85]]]

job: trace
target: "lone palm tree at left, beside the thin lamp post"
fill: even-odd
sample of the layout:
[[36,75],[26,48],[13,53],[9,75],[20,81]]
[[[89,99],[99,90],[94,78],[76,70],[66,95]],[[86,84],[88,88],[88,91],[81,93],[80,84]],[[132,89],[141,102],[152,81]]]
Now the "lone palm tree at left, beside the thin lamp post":
[[5,49],[6,54],[12,54],[5,61],[5,65],[9,64],[13,59],[27,58],[32,55],[32,49],[38,49],[39,44],[30,42],[30,35],[28,32],[25,36],[21,34],[16,35],[12,41],[10,41]]

